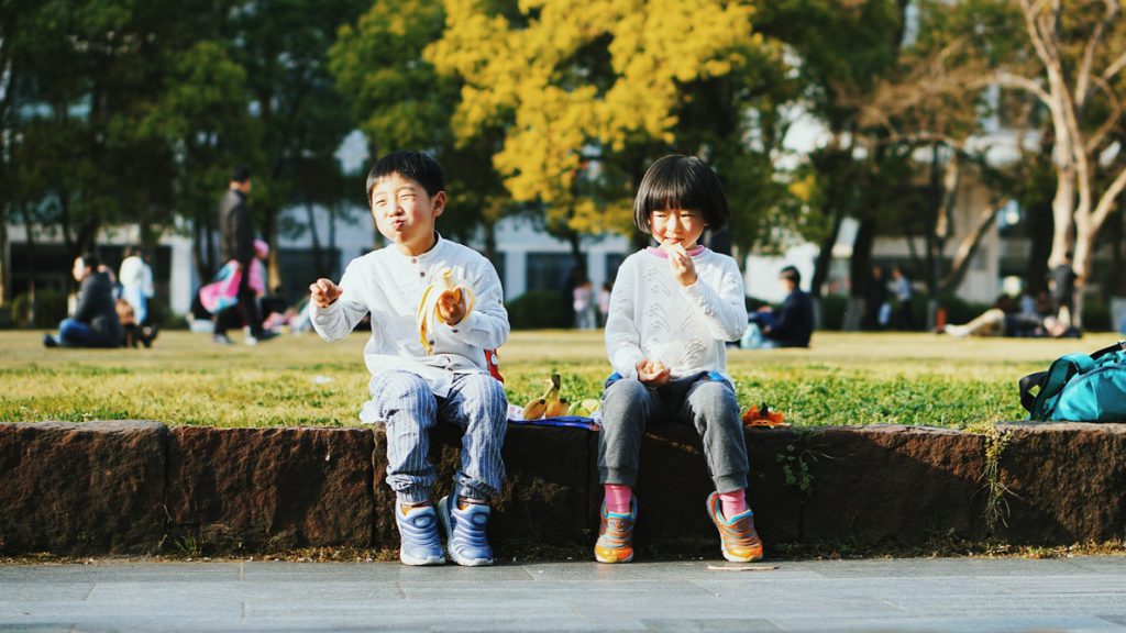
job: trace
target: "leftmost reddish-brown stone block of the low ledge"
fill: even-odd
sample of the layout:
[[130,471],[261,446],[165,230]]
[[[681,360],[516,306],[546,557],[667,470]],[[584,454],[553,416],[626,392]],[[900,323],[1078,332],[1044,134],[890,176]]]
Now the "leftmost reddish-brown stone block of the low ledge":
[[160,422],[0,424],[0,552],[155,550],[167,438]]

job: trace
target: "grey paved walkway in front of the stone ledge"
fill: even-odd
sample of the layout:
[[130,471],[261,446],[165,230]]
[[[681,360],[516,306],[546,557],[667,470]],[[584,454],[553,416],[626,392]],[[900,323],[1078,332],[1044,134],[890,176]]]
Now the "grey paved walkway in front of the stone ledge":
[[0,567],[0,631],[1126,631],[1126,558]]

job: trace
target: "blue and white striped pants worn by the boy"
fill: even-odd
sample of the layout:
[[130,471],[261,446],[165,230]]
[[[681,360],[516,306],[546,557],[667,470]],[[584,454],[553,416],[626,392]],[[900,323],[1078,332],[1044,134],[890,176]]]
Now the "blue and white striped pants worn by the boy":
[[489,499],[504,481],[500,451],[508,428],[504,389],[489,374],[455,374],[446,398],[411,372],[384,372],[372,378],[372,404],[387,428],[387,483],[400,502],[430,499],[436,474],[430,463],[430,434],[439,420],[457,425],[462,467],[454,476],[456,494]]

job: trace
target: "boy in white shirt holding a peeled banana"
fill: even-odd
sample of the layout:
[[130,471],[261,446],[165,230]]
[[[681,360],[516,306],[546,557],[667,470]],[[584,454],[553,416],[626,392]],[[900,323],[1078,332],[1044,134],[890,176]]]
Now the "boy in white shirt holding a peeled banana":
[[[455,562],[492,564],[485,525],[489,499],[504,478],[500,451],[508,400],[489,373],[485,350],[508,339],[500,279],[479,252],[435,232],[435,220],[446,211],[445,173],[429,155],[404,151],[379,159],[367,175],[367,202],[379,233],[393,243],[354,259],[339,286],[329,279],[310,286],[313,327],[325,340],[337,340],[372,314],[364,349],[372,399],[360,420],[386,424],[387,483],[397,497],[403,563],[445,562],[440,520]],[[420,340],[419,305],[447,268],[473,294],[443,293],[436,305],[440,320],[434,319]],[[465,434],[454,492],[436,509],[427,454],[429,429],[438,420]]]

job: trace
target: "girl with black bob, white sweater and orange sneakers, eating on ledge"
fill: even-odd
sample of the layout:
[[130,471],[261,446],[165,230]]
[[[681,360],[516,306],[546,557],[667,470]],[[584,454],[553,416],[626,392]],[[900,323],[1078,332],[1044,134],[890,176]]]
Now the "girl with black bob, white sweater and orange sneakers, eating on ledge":
[[614,374],[602,395],[598,470],[604,484],[595,558],[633,560],[638,451],[650,420],[687,419],[704,440],[716,491],[707,512],[725,559],[762,558],[747,506],[747,444],[726,341],[747,329],[743,278],[735,260],[698,243],[729,217],[715,173],[698,158],[665,157],[649,168],[634,200],[637,229],[656,248],[626,258],[610,295],[606,350]]

